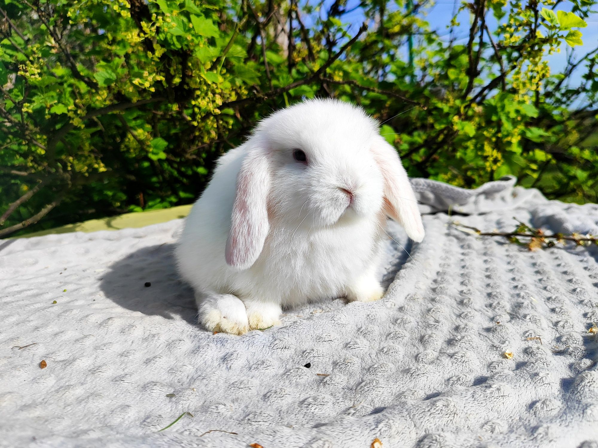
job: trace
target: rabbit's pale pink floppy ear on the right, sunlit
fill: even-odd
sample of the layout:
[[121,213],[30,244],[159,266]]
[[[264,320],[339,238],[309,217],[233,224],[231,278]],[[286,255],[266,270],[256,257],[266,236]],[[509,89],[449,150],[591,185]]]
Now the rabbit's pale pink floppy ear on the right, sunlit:
[[385,139],[376,136],[371,151],[384,177],[385,212],[401,224],[413,241],[424,237],[422,216],[409,183],[407,172],[396,150]]

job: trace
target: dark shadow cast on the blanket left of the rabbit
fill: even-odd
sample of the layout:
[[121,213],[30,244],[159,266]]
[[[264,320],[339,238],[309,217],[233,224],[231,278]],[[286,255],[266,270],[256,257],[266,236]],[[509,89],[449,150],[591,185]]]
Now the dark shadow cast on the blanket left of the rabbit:
[[[197,324],[193,290],[176,271],[174,244],[141,248],[109,266],[100,280],[106,298],[123,308]],[[151,286],[145,286],[150,283]]]

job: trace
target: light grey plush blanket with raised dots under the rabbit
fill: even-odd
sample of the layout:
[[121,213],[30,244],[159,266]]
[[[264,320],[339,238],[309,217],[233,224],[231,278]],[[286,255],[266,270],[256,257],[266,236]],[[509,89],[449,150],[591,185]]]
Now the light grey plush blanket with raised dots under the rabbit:
[[450,222],[598,234],[598,205],[413,185],[426,238],[390,225],[384,299],[244,336],[194,322],[181,220],[0,241],[0,446],[597,447],[598,247]]

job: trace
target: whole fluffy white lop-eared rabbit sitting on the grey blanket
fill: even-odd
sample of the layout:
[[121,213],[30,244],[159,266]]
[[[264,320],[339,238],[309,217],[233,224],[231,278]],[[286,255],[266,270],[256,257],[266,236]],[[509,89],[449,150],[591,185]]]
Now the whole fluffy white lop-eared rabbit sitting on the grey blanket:
[[422,241],[407,173],[376,120],[337,100],[273,113],[219,159],[176,247],[200,323],[242,335],[280,324],[281,306],[380,299],[386,216]]

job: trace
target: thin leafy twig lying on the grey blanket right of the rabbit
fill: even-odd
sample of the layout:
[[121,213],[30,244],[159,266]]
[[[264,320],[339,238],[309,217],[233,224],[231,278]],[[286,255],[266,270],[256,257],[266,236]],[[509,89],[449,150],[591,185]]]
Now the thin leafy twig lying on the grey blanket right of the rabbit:
[[[573,241],[577,246],[589,246],[590,244],[596,244],[598,246],[598,237],[594,235],[582,235],[573,232],[571,235],[565,235],[561,232],[556,234],[545,234],[542,229],[536,229],[526,223],[521,222],[517,218],[515,219],[519,225],[512,232],[482,232],[480,229],[466,226],[457,221],[453,221],[451,224],[457,229],[468,234],[479,235],[480,237],[502,237],[507,238],[510,243],[519,244],[520,246],[526,246],[529,250],[536,250],[548,247],[554,247],[557,243],[565,244],[565,241]],[[519,238],[529,238],[528,241],[521,241]]]

